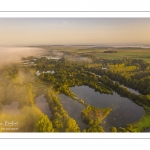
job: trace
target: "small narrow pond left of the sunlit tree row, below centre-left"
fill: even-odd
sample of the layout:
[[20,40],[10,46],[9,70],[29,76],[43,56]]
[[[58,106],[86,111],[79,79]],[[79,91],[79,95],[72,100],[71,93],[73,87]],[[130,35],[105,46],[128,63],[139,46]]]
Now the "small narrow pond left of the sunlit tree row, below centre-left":
[[46,99],[44,98],[44,94],[42,94],[36,98],[36,106],[49,118],[52,116],[49,105],[48,105]]

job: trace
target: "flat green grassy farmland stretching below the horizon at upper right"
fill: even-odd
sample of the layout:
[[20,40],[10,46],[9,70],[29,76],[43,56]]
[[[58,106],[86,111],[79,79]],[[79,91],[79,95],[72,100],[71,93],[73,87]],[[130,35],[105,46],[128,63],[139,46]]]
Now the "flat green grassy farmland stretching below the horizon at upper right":
[[[106,59],[122,59],[133,58],[143,59],[150,63],[150,48],[111,48],[111,47],[94,47],[94,46],[47,46],[47,50],[56,50],[60,52],[73,52],[73,53],[88,53],[93,54],[99,58]],[[104,53],[104,51],[113,50],[117,53]]]

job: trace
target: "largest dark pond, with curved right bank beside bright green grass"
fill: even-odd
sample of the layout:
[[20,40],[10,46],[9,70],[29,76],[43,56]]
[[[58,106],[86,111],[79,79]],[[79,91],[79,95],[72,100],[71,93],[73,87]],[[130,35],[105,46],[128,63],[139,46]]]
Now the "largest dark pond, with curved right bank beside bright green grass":
[[[121,97],[115,92],[113,95],[100,94],[88,86],[75,86],[71,87],[70,90],[87,104],[99,108],[112,108],[110,114],[102,121],[102,126],[107,132],[111,126],[117,128],[126,127],[126,124],[139,120],[144,114],[143,107],[138,106],[128,98]],[[73,105],[69,111],[71,111],[70,113],[76,113],[77,107]]]

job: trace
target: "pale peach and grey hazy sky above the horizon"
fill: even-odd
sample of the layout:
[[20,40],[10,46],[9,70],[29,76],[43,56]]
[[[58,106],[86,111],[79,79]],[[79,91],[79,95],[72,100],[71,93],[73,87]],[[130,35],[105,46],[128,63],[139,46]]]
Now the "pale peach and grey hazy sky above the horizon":
[[0,18],[0,45],[150,44],[150,18]]

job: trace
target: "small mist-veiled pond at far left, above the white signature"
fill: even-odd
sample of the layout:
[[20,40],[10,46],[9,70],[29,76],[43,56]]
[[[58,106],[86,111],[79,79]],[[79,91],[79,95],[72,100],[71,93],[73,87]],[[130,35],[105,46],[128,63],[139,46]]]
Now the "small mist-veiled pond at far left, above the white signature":
[[8,114],[8,115],[18,115],[19,109],[18,109],[18,102],[12,102],[11,105],[2,105],[2,114]]

